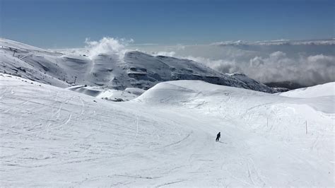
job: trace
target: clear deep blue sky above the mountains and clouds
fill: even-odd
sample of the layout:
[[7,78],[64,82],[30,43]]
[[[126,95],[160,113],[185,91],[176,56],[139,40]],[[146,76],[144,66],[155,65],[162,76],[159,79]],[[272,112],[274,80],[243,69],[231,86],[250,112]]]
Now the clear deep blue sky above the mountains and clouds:
[[86,37],[194,45],[334,37],[326,0],[0,0],[0,35],[37,47],[83,47]]

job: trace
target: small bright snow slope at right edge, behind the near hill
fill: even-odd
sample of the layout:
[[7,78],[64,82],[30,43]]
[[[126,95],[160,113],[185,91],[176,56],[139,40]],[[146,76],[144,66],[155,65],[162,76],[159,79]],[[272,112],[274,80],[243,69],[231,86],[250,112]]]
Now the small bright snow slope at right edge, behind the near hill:
[[335,82],[324,83],[309,88],[289,90],[287,92],[280,93],[280,95],[290,98],[317,98],[320,96],[334,96]]

